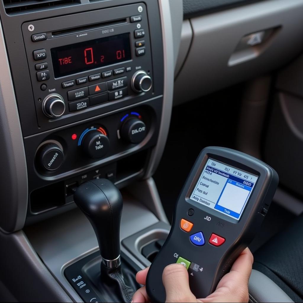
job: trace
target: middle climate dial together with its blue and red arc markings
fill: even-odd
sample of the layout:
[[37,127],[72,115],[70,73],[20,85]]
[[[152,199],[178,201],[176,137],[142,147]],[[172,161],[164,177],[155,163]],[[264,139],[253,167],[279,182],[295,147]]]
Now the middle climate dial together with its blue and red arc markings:
[[109,139],[104,128],[86,128],[80,135],[78,146],[91,158],[102,158],[109,151]]

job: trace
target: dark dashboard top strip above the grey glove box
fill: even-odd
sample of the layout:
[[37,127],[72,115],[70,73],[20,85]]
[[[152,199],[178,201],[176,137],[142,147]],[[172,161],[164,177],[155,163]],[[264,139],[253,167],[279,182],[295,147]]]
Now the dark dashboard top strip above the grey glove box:
[[221,10],[257,1],[261,0],[183,0],[184,19],[202,15],[205,11],[209,10]]

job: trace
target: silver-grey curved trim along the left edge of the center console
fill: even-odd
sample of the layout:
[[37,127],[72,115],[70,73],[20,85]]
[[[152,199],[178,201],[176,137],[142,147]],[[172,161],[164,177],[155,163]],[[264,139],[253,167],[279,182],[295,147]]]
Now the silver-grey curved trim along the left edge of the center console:
[[[5,180],[2,186],[0,185],[2,195],[0,228],[13,232],[24,226],[28,180],[21,125],[1,22],[0,66],[0,166],[2,168],[0,180],[2,178]],[[23,102],[33,102],[33,100],[23,100]],[[9,172],[6,169],[9,169]],[[9,179],[11,179],[10,184],[8,184]]]

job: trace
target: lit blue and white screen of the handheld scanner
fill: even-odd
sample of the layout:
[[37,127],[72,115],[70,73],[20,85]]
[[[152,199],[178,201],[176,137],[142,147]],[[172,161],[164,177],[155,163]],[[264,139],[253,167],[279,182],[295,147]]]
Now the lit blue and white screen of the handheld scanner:
[[240,219],[258,176],[208,158],[190,199]]

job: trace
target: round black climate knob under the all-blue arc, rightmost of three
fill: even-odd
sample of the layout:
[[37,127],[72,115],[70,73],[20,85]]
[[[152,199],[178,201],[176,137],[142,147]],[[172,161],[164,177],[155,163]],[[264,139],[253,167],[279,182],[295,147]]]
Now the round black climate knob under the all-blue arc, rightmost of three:
[[130,143],[142,142],[146,134],[146,125],[138,118],[129,118],[121,127],[121,137]]

